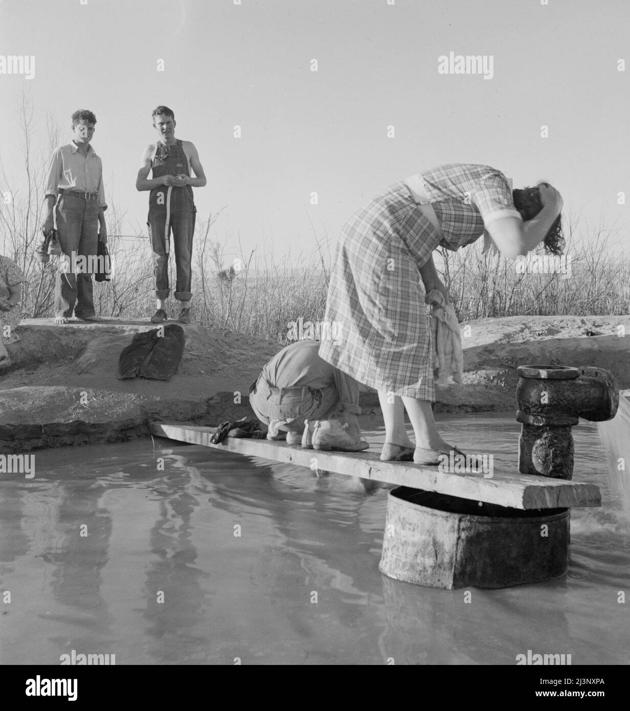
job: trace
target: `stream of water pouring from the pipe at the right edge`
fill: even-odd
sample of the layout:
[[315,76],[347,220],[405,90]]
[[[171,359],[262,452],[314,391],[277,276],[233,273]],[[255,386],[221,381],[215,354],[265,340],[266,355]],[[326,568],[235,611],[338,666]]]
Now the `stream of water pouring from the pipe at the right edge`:
[[630,529],[630,400],[619,395],[619,410],[613,419],[598,422],[599,438],[608,454],[608,482],[619,497],[624,523]]

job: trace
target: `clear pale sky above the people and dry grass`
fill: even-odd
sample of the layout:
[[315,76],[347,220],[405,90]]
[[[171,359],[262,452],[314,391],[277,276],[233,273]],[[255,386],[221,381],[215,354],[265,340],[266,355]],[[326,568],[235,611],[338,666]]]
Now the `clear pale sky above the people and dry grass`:
[[[616,230],[627,252],[630,3],[545,2],[0,0],[0,61],[35,58],[31,79],[0,73],[0,159],[23,174],[23,90],[34,143],[47,116],[69,142],[70,114],[91,109],[107,196],[124,234],[146,235],[135,179],[167,105],[208,177],[198,218],[223,208],[211,236],[228,258],[333,245],[388,185],[450,162],[552,182],[565,215]],[[492,72],[440,73],[449,53]]]

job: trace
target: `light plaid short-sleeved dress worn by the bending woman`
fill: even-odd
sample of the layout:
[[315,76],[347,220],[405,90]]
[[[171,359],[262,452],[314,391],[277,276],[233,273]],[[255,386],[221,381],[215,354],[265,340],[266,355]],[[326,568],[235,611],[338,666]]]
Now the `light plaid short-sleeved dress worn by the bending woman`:
[[490,166],[448,164],[420,173],[442,240],[405,183],[358,210],[337,242],[325,321],[342,338],[321,341],[319,356],[359,383],[435,400],[431,332],[418,269],[433,250],[456,251],[484,225],[520,214],[506,176]]

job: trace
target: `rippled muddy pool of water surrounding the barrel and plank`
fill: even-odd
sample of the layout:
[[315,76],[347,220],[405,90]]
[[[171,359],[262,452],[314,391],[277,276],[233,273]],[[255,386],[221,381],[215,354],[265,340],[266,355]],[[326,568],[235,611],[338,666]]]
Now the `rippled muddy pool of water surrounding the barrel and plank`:
[[[516,461],[513,415],[439,427]],[[348,477],[165,439],[36,451],[33,479],[0,475],[0,663],[626,664],[630,534],[596,425],[573,432],[603,505],[572,510],[568,574],[469,596],[383,576],[387,491]]]

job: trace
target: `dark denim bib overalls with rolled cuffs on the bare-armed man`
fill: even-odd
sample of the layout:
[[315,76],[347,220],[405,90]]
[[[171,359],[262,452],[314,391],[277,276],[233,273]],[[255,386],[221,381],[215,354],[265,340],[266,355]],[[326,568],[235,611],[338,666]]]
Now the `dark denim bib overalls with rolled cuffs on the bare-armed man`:
[[[182,141],[172,146],[158,142],[153,157],[153,178],[190,176],[188,159],[183,151]],[[175,298],[179,301],[191,299],[191,255],[197,208],[193,202],[193,188],[161,185],[153,188],[149,195],[149,238],[153,250],[155,275],[155,295],[158,299],[168,299],[170,232],[173,230],[173,251],[177,273]]]

